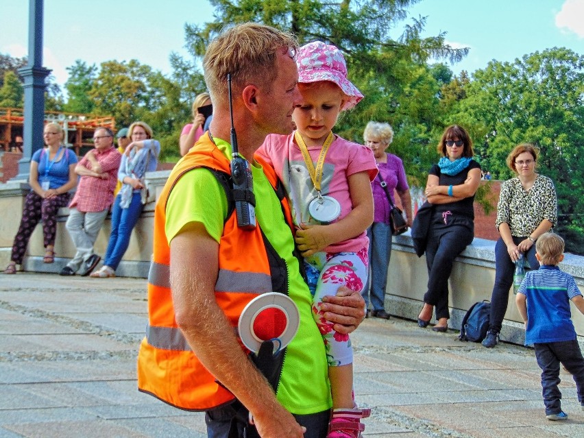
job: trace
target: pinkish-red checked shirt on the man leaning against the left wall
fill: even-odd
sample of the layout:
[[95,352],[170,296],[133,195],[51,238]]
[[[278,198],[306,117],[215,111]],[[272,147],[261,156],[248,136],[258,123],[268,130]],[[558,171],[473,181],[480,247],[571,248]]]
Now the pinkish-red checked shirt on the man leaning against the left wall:
[[[92,149],[95,159],[101,165],[101,171],[108,173],[108,179],[102,180],[95,176],[82,176],[77,184],[77,191],[69,204],[69,208],[77,208],[80,212],[98,212],[110,208],[114,202],[114,188],[118,181],[118,168],[121,154],[115,147],[106,151]],[[89,152],[87,153],[89,154]],[[91,169],[87,154],[80,160],[79,165]]]

